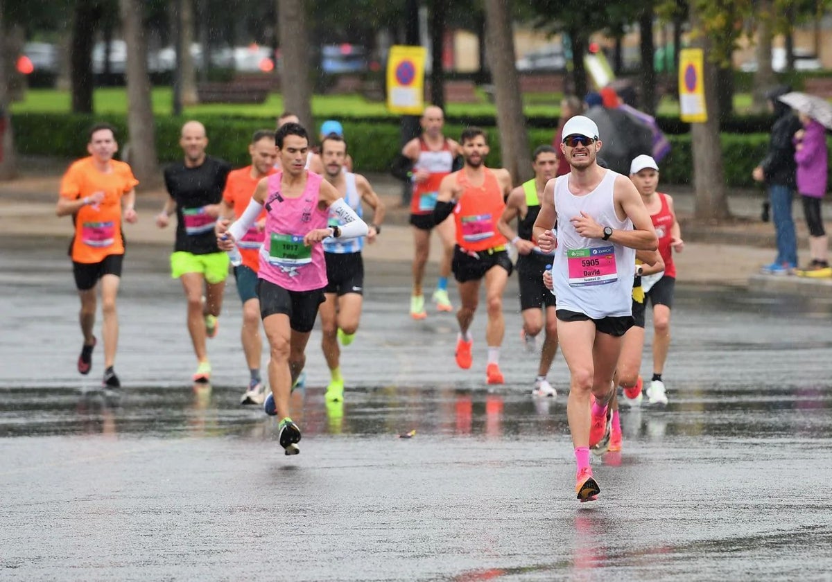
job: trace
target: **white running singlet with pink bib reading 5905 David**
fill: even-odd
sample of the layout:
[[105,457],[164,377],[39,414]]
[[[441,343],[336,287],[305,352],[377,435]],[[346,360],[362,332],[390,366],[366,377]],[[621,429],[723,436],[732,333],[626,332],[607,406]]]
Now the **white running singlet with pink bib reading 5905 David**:
[[620,174],[607,174],[587,195],[569,190],[569,174],[555,182],[557,249],[552,264],[557,309],[584,313],[592,319],[632,314],[632,281],[636,251],[608,240],[586,239],[577,234],[571,219],[586,212],[598,224],[632,230],[632,221],[619,220],[612,201],[613,185]]

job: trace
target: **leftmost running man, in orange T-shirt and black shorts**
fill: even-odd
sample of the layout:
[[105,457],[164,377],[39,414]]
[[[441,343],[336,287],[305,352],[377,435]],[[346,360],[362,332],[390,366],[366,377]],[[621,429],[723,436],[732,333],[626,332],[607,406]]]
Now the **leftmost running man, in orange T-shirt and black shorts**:
[[61,180],[57,200],[58,216],[72,215],[75,234],[69,248],[72,273],[81,298],[78,319],[84,343],[78,357],[78,372],[90,373],[92,348],[96,337],[92,327],[96,323],[97,289],[101,281],[104,324],[104,379],[105,387],[121,387],[113,365],[118,344],[118,314],[116,295],[121,281],[121,262],[124,259],[124,237],[121,235],[121,215],[127,222],[136,222],[136,185],[129,165],[113,160],[118,151],[116,131],[106,123],[92,126],[87,141],[89,156],[69,166]]

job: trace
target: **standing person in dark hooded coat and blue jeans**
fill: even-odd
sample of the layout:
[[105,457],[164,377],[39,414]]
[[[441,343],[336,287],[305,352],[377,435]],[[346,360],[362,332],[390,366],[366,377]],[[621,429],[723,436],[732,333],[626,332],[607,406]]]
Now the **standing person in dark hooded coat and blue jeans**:
[[774,263],[762,268],[766,274],[790,274],[797,267],[797,236],[791,217],[792,196],[797,185],[792,137],[802,126],[791,108],[778,99],[789,91],[788,86],[777,86],[766,94],[775,123],[771,126],[769,152],[751,173],[754,180],[765,182],[774,215],[777,256]]

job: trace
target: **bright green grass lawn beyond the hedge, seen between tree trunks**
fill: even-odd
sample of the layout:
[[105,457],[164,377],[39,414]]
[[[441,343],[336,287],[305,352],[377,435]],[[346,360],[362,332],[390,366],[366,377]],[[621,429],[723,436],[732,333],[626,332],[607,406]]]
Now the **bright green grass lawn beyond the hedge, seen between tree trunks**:
[[[154,87],[153,111],[157,116],[170,116],[172,111],[172,96],[170,87]],[[489,102],[483,91],[479,92],[480,103],[449,103],[446,107],[449,116],[493,116],[495,106]],[[560,115],[560,93],[531,93],[523,96],[523,111],[527,116]],[[748,111],[751,97],[748,94],[738,94],[734,98],[736,111]],[[52,89],[31,89],[26,92],[23,101],[12,106],[12,113],[22,115],[27,112],[37,113],[68,113],[70,111],[69,91]],[[106,87],[96,89],[93,94],[93,108],[97,113],[126,114],[127,100],[124,87]],[[283,96],[272,93],[260,105],[214,103],[186,107],[185,116],[199,117],[201,115],[225,115],[236,117],[276,117],[283,111]],[[342,117],[349,112],[349,116],[374,117],[388,116],[387,107],[382,101],[368,101],[360,95],[316,95],[312,98],[312,114],[319,118]],[[661,115],[674,116],[679,114],[679,104],[665,97],[659,104]]]

